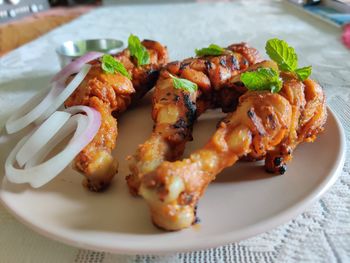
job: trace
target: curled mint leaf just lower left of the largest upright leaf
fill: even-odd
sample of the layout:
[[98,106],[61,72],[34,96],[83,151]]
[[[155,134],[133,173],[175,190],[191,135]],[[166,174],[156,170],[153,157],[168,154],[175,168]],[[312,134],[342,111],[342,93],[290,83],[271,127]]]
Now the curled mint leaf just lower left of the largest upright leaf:
[[241,74],[241,81],[248,90],[269,90],[277,93],[282,88],[282,80],[277,71],[271,68],[259,68]]

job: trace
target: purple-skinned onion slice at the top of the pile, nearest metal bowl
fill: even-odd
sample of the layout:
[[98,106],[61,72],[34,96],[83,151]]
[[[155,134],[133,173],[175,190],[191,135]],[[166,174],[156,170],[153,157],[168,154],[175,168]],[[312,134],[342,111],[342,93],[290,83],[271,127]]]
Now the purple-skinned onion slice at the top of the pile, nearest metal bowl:
[[65,80],[70,75],[78,73],[84,64],[102,56],[103,56],[103,53],[101,52],[92,51],[92,52],[86,53],[84,56],[81,56],[73,60],[71,63],[65,66],[60,72],[58,72],[52,78],[52,82],[59,81],[62,79]]

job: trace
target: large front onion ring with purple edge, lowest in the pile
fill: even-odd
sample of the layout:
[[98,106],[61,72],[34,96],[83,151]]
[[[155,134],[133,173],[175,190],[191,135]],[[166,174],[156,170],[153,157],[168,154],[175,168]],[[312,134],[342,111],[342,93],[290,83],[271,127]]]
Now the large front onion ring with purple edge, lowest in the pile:
[[[99,112],[86,106],[71,107],[68,108],[66,112],[71,114],[85,112],[87,115],[76,114],[68,121],[64,120],[64,118],[60,118],[62,117],[60,114],[52,115],[52,118],[57,118],[57,121],[65,123],[45,146],[31,139],[40,139],[40,134],[45,132],[40,128],[24,137],[11,151],[5,162],[6,177],[10,182],[29,183],[34,188],[40,187],[55,178],[74,157],[92,141],[101,125],[101,116]],[[45,123],[46,121],[43,125],[45,125]],[[59,142],[73,131],[75,131],[73,138],[62,151],[49,160],[39,164]],[[28,156],[23,156],[22,161],[28,160],[26,164],[29,165],[25,164],[24,168],[16,168],[16,156],[21,152],[23,146],[26,145],[27,142],[30,142],[33,149],[36,149],[36,153],[30,158]]]

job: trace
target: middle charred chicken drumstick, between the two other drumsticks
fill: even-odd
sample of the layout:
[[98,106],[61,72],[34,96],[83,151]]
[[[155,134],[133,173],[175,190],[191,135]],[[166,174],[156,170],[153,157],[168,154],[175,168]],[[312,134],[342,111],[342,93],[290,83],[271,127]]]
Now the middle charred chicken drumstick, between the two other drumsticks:
[[[209,108],[233,110],[246,89],[234,83],[235,77],[260,61],[256,49],[245,43],[233,44],[220,56],[203,56],[169,63],[160,73],[153,94],[150,138],[130,157],[129,190],[138,195],[141,179],[164,161],[179,159],[185,144],[192,140],[196,118]],[[198,90],[188,92],[174,87],[177,76],[196,83]]]

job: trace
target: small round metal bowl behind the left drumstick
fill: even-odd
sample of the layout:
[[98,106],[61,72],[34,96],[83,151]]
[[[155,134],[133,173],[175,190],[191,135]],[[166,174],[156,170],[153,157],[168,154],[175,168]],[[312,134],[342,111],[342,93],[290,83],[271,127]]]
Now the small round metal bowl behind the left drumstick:
[[117,39],[88,39],[78,41],[66,41],[56,48],[61,67],[72,60],[81,57],[89,51],[99,51],[108,54],[116,54],[124,43]]

